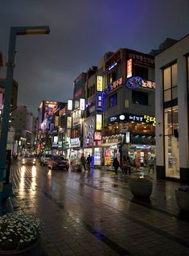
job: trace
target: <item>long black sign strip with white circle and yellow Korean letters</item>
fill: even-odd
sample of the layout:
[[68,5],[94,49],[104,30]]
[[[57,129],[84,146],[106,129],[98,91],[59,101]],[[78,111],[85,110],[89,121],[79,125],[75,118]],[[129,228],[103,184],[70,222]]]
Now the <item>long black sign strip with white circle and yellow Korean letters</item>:
[[119,121],[146,122],[146,123],[151,123],[153,126],[155,126],[155,118],[148,116],[146,114],[143,116],[139,116],[135,114],[120,114],[120,115],[109,118],[109,122],[119,122]]

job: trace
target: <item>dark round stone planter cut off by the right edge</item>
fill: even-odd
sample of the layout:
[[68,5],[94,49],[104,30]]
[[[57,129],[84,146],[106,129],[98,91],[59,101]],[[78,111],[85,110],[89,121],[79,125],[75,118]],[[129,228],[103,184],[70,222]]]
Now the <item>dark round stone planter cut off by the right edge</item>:
[[175,189],[175,196],[180,211],[189,213],[189,192]]

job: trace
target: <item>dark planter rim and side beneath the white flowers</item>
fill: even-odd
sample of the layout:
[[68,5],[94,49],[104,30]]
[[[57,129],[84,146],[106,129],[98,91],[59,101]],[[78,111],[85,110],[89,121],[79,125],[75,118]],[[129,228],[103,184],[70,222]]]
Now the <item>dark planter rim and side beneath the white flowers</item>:
[[0,256],[34,256],[40,255],[41,239],[39,238],[33,245],[22,250],[1,250]]

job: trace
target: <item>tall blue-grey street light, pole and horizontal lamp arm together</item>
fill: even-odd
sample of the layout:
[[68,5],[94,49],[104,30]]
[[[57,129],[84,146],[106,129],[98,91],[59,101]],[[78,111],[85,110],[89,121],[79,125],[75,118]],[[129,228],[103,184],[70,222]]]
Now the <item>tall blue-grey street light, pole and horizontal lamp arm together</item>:
[[10,96],[13,82],[14,55],[17,35],[49,34],[48,26],[43,27],[10,27],[9,52],[6,69],[5,97],[2,113],[2,133],[0,139],[0,216],[2,216],[2,189],[6,172],[6,142],[10,118]]

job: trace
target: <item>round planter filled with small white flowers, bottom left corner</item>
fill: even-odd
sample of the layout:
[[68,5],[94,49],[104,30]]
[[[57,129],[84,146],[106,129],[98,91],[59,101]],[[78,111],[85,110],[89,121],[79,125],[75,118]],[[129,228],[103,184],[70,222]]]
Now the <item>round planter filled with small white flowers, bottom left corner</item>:
[[39,218],[30,213],[0,218],[0,255],[38,255],[39,244]]

